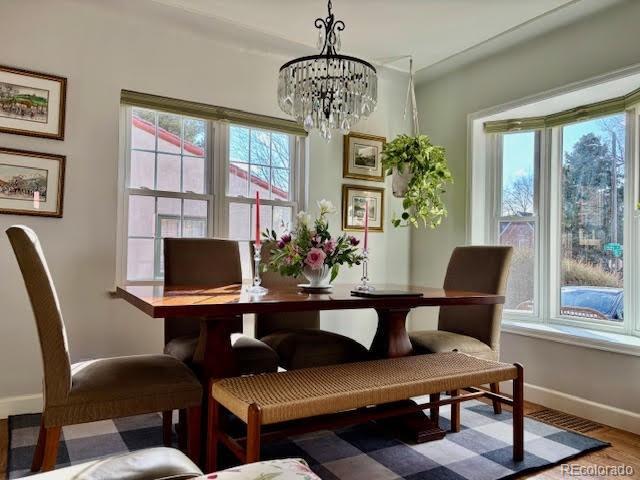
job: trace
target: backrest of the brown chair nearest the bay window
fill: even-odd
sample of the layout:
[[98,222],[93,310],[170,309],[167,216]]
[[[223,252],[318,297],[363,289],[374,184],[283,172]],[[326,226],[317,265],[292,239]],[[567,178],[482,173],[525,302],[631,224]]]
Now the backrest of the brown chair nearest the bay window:
[[[507,288],[511,247],[457,247],[451,254],[444,288],[504,295]],[[438,330],[476,338],[500,350],[502,305],[440,307]]]

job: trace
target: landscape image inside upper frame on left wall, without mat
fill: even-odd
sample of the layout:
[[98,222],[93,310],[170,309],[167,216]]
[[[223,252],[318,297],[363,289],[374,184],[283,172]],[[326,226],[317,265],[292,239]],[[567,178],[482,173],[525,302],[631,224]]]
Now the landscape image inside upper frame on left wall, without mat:
[[47,123],[49,91],[0,82],[0,117]]

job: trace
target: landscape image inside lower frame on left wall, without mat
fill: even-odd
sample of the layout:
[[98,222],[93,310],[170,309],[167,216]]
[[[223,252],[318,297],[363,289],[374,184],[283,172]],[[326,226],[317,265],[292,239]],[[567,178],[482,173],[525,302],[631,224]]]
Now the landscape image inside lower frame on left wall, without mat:
[[44,168],[0,163],[0,198],[46,202],[48,175]]

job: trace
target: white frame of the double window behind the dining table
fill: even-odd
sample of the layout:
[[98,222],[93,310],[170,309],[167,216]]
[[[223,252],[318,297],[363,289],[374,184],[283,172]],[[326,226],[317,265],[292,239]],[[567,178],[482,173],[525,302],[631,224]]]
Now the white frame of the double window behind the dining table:
[[[228,182],[228,165],[229,150],[228,150],[228,138],[229,138],[229,126],[231,125],[225,120],[214,120],[195,115],[187,112],[180,113],[172,111],[170,113],[175,115],[181,115],[187,118],[194,118],[203,120],[207,127],[207,143],[206,143],[206,155],[204,157],[205,162],[205,191],[202,194],[192,192],[171,192],[162,190],[153,190],[149,188],[131,188],[129,187],[129,175],[131,166],[131,119],[134,108],[143,108],[147,110],[153,110],[155,112],[163,113],[160,109],[154,109],[150,107],[138,107],[136,105],[122,104],[120,106],[120,122],[119,122],[119,145],[120,154],[118,161],[118,201],[117,201],[117,241],[116,241],[116,278],[117,285],[162,285],[164,282],[161,278],[155,278],[153,280],[129,280],[127,278],[127,259],[128,259],[128,230],[129,230],[129,198],[131,195],[136,196],[151,196],[156,198],[156,210],[154,219],[158,222],[157,215],[157,198],[172,198],[181,200],[181,218],[184,212],[184,200],[199,200],[207,201],[207,231],[208,238],[227,238],[228,236],[228,204],[229,200],[236,203],[255,203],[255,199],[249,197],[228,197],[227,196],[227,182]],[[157,121],[156,121],[157,123]],[[240,125],[240,124],[238,124]],[[245,126],[245,125],[240,125]],[[290,138],[290,147],[293,146],[291,151],[291,175],[290,175],[290,193],[291,200],[287,202],[287,206],[292,207],[292,220],[295,218],[296,213],[306,207],[306,177],[305,177],[305,163],[306,163],[306,138],[300,135],[296,135],[292,132],[286,132],[269,128],[251,127],[261,130],[267,130],[270,132],[284,133]],[[156,136],[156,149],[157,149],[157,136]],[[156,153],[156,152],[154,152]],[[199,157],[198,157],[199,158]],[[157,162],[157,156],[156,156]],[[181,164],[182,167],[182,164]],[[182,168],[181,168],[181,187],[182,187]],[[263,205],[282,205],[280,201],[273,201],[267,199],[261,199]],[[171,216],[171,215],[165,215]],[[199,217],[198,217],[199,218]],[[184,218],[183,218],[184,220]],[[157,225],[156,225],[157,228]],[[180,223],[181,230],[184,229],[184,222]],[[154,237],[154,274],[156,268],[159,265],[160,249],[157,247],[158,232]],[[148,238],[148,237],[144,237]],[[150,238],[150,237],[149,237]]]

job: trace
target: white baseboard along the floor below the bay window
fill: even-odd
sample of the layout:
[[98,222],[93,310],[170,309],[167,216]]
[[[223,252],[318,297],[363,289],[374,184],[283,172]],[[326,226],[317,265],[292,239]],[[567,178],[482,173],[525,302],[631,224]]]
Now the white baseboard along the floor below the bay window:
[[[510,383],[510,382],[509,382]],[[511,392],[507,382],[501,385],[505,392]],[[524,398],[547,408],[570,413],[594,422],[619,428],[640,435],[640,413],[622,408],[603,405],[568,393],[525,383]]]

